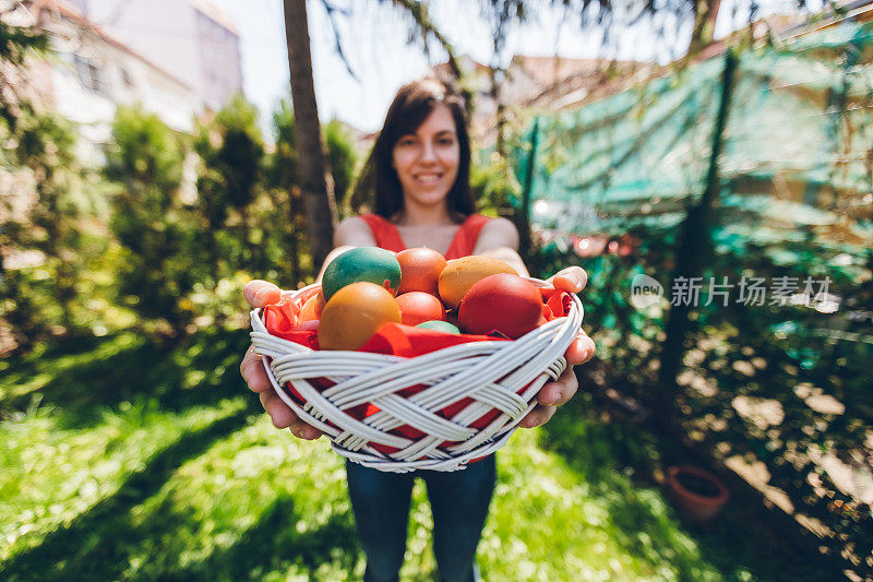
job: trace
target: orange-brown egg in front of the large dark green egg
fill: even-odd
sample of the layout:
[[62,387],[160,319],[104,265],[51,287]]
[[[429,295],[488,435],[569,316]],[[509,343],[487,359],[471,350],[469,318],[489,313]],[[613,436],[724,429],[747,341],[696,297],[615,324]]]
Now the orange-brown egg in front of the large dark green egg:
[[388,322],[400,322],[400,309],[387,289],[367,281],[346,285],[324,306],[319,347],[358,349]]

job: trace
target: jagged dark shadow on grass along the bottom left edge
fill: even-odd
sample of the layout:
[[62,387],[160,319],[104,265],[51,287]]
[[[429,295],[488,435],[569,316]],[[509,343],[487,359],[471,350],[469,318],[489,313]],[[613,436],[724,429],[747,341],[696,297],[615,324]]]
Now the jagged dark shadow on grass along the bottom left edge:
[[[208,557],[203,560],[189,561],[187,555],[203,553],[191,538],[203,524],[194,512],[180,511],[172,499],[166,499],[142,525],[132,524],[127,513],[119,514],[95,530],[79,532],[72,551],[37,557],[2,573],[10,581],[236,581],[287,571],[291,565],[309,572],[330,562],[343,571],[355,569],[359,550],[350,512],[303,533],[295,528],[299,519],[294,499],[278,498],[236,543],[206,550]],[[45,546],[37,549],[45,555]]]

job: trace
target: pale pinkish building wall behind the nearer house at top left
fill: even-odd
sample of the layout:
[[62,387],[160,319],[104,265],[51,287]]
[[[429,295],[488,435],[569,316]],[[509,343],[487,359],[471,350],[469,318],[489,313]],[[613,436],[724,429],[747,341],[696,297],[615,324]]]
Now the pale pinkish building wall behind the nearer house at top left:
[[208,0],[68,0],[100,29],[191,86],[216,110],[242,91],[239,33]]

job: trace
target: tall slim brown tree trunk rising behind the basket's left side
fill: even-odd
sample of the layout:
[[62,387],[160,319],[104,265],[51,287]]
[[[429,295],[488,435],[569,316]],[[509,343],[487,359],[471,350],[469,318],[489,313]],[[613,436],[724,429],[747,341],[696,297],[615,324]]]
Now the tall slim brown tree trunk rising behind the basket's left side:
[[[324,152],[312,81],[306,0],[284,0],[288,69],[291,73],[295,139],[303,194],[303,212],[312,251],[312,269],[318,272],[333,248],[333,221],[324,177]],[[292,218],[292,217],[291,217]],[[314,273],[313,273],[314,274]]]

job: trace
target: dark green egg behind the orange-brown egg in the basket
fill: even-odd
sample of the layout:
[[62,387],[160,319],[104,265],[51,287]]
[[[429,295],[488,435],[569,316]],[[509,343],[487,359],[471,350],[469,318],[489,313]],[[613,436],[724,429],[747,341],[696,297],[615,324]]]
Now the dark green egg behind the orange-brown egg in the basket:
[[388,287],[392,295],[396,295],[400,286],[400,263],[393,252],[378,247],[349,249],[324,269],[321,281],[324,299],[330,300],[346,285],[360,281]]

